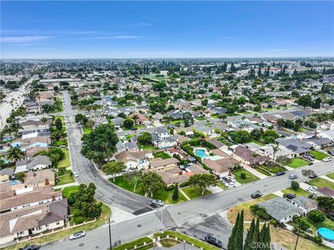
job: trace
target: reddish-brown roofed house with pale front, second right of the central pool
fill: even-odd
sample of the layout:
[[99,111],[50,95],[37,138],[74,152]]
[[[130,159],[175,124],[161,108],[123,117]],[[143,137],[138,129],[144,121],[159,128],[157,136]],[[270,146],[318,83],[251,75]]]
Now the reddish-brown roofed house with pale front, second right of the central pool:
[[232,156],[246,165],[263,164],[270,160],[269,156],[260,155],[241,145],[233,149]]

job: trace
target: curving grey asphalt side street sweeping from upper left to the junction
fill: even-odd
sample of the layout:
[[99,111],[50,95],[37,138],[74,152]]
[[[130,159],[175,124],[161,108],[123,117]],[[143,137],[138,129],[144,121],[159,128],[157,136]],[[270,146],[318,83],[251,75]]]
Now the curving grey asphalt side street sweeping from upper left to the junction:
[[70,105],[70,95],[67,91],[63,92],[64,111],[57,115],[65,115],[68,121],[67,136],[69,140],[70,157],[72,170],[79,174],[77,181],[79,183],[89,184],[95,183],[97,190],[95,192],[96,199],[103,201],[111,206],[120,208],[127,213],[145,213],[152,210],[152,200],[127,192],[113,185],[109,181],[102,178],[95,165],[81,155],[81,136],[82,129],[74,122],[74,116],[77,114]]

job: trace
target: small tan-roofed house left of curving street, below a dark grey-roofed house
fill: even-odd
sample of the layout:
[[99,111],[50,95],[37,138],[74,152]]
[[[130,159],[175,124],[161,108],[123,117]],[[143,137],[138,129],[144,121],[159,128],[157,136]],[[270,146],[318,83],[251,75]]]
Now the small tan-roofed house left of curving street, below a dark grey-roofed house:
[[42,169],[40,171],[28,172],[24,177],[24,185],[30,187],[44,187],[54,185],[55,176],[51,169]]

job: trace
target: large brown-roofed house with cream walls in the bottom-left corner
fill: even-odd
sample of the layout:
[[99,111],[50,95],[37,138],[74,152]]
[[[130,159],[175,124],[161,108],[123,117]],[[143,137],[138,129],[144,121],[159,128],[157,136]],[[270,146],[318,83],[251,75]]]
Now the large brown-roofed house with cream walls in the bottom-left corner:
[[1,214],[0,244],[65,226],[67,199]]

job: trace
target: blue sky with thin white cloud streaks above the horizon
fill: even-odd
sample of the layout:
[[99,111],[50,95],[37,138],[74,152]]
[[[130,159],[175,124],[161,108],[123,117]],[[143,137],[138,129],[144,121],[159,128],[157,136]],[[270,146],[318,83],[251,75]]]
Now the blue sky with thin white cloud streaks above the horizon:
[[334,56],[334,1],[1,1],[1,58]]

